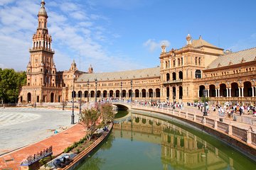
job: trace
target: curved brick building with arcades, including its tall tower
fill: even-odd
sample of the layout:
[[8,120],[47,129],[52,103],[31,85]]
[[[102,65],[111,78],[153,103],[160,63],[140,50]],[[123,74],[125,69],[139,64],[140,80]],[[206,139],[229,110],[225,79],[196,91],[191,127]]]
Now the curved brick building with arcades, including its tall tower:
[[70,69],[58,72],[53,60],[52,38],[48,33],[45,1],[38,12],[38,28],[26,70],[27,84],[19,103],[58,103],[63,101],[99,101],[119,98],[138,101],[178,103],[200,100],[203,91],[215,103],[254,104],[256,47],[240,52],[224,51],[200,36],[184,38],[180,49],[161,46],[159,67],[123,72],[95,73],[78,70],[75,61]]

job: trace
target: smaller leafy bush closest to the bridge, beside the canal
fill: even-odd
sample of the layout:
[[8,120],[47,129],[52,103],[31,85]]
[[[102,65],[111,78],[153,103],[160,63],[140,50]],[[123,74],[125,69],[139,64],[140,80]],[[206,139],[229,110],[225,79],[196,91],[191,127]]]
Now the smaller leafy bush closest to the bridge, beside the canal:
[[112,122],[114,120],[113,106],[111,103],[103,103],[100,106],[103,123]]

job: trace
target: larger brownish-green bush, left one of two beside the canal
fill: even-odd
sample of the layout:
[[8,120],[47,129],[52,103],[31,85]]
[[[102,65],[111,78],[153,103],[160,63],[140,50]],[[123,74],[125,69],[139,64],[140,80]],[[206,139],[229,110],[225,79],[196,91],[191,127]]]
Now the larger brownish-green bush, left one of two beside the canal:
[[97,108],[83,110],[80,114],[80,123],[87,130],[88,140],[96,130],[96,121],[100,118],[100,111]]

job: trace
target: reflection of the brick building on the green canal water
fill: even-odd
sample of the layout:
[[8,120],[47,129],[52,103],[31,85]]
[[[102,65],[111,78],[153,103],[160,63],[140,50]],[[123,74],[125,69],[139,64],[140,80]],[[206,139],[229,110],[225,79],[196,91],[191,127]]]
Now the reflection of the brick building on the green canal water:
[[[255,164],[213,137],[145,115],[114,125],[120,137],[161,145],[166,169],[255,169]],[[196,134],[196,135],[195,135]],[[206,142],[210,140],[210,142]],[[219,148],[219,149],[218,149]]]

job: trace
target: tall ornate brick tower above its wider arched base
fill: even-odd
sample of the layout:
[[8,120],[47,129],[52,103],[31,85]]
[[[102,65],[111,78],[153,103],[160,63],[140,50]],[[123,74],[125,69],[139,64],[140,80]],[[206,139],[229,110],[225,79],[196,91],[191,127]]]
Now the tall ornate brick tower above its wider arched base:
[[52,38],[47,28],[46,2],[41,1],[38,28],[33,34],[33,44],[27,67],[27,86],[56,86],[56,68],[53,62]]

